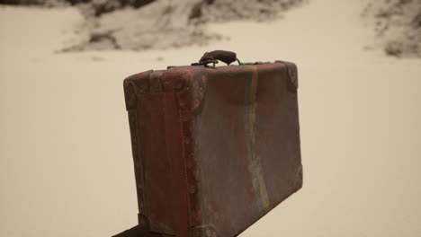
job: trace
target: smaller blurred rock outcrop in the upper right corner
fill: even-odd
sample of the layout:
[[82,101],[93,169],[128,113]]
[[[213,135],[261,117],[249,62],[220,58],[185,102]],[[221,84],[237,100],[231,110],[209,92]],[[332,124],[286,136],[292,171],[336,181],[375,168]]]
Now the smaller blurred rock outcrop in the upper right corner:
[[363,16],[386,54],[421,57],[421,0],[372,0]]

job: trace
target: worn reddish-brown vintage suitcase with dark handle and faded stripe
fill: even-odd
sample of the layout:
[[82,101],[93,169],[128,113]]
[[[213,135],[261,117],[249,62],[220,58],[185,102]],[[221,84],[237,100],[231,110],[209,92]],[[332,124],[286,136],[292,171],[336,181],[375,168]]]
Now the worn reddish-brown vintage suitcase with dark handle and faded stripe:
[[139,236],[237,236],[302,186],[297,67],[216,59],[124,80]]

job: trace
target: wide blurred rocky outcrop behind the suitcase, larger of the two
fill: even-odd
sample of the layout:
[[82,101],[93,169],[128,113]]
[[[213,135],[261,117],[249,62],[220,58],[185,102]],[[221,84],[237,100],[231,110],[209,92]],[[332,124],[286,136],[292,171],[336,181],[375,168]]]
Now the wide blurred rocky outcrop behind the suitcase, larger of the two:
[[74,50],[176,48],[222,36],[207,22],[265,21],[306,0],[0,0],[3,4],[76,5],[85,15]]

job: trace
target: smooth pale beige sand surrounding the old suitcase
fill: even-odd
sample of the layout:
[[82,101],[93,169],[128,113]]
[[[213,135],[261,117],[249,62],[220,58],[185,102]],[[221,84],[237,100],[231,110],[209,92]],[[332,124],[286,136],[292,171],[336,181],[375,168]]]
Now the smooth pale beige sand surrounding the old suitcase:
[[[73,9],[0,8],[0,236],[110,236],[136,224],[122,79],[207,50],[300,68],[304,188],[242,237],[421,236],[421,60],[364,51],[363,4],[312,0],[206,48],[55,54]],[[68,29],[65,31],[64,29]]]

